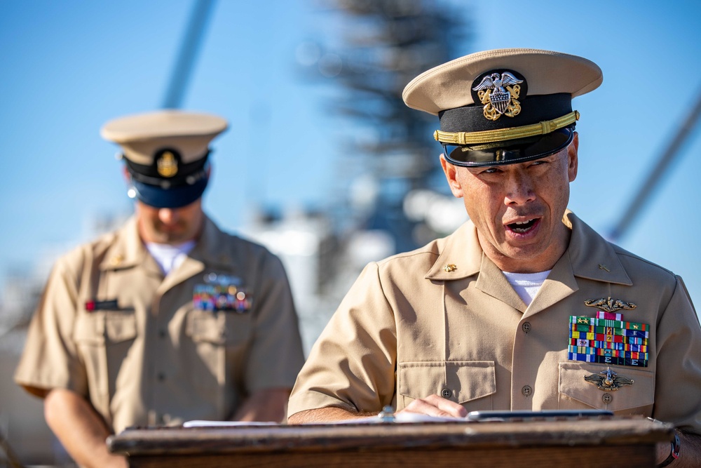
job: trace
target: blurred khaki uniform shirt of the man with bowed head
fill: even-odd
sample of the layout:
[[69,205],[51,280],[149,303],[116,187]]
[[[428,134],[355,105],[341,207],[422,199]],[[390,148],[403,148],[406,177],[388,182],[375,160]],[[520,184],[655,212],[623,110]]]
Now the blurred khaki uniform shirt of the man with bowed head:
[[[205,276],[238,283],[252,307],[196,309],[193,290]],[[117,307],[90,312],[93,300]],[[302,363],[290,286],[275,255],[207,218],[196,246],[164,279],[132,218],[57,261],[15,381],[35,394],[64,388],[85,396],[118,433],[230,419],[252,392],[292,387]]]

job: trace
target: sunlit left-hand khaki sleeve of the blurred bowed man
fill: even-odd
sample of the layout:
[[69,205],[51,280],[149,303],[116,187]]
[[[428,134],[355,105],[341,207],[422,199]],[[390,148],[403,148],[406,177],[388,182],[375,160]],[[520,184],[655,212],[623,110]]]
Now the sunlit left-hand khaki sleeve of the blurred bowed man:
[[29,325],[15,382],[43,396],[53,388],[88,395],[86,370],[73,340],[78,280],[66,258],[54,266]]

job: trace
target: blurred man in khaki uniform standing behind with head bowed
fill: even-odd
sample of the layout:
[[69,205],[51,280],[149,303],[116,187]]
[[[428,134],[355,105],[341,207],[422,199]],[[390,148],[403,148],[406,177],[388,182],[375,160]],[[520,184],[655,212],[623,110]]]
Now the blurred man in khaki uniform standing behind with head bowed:
[[132,425],[278,421],[304,362],[280,260],[203,213],[218,116],[109,121],[135,215],[57,261],[15,380],[80,464],[125,466],[105,439]]

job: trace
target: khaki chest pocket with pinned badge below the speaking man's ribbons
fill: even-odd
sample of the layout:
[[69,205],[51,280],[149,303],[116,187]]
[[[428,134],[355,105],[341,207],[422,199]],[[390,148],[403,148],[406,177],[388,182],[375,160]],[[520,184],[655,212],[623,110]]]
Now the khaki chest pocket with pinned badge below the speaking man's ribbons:
[[598,408],[617,415],[652,415],[655,401],[655,374],[650,370],[612,366],[611,370],[632,380],[615,391],[605,391],[587,382],[587,375],[600,375],[605,366],[585,362],[561,362],[559,365],[560,409]]

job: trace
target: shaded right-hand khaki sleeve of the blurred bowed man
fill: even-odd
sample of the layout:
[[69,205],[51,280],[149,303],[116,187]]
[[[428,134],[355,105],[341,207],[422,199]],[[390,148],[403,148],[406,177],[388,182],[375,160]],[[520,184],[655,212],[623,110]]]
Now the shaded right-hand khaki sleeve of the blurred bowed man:
[[292,388],[304,352],[290,283],[280,259],[271,253],[262,261],[254,301],[254,336],[245,369],[247,392]]

